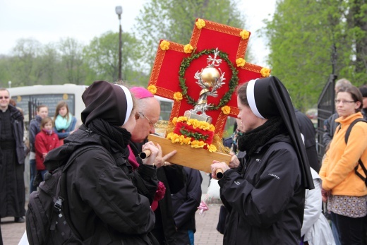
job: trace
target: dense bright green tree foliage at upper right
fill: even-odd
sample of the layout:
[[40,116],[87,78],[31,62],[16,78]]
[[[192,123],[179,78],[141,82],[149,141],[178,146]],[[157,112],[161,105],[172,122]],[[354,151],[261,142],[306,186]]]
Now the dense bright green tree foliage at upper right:
[[[266,22],[272,76],[287,86],[299,109],[317,103],[330,73],[354,85],[366,83],[366,65],[359,67],[366,64],[366,52],[356,48],[362,50],[367,44],[366,14],[361,15],[366,9],[357,2],[278,1],[273,19]],[[363,25],[356,25],[353,12],[361,17],[359,21],[364,18]]]

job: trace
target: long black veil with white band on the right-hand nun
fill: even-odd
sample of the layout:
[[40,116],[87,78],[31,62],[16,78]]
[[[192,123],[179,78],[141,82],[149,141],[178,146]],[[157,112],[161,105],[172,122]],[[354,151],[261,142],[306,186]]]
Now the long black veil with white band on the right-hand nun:
[[314,189],[306,148],[296,121],[294,107],[282,82],[275,76],[251,80],[248,82],[246,95],[248,104],[255,116],[262,119],[282,116],[299,158],[303,185],[306,189]]

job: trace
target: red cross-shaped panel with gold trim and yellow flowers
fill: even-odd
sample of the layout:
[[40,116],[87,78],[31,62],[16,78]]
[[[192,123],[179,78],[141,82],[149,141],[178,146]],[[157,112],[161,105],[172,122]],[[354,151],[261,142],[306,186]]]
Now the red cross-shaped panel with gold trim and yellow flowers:
[[207,103],[217,109],[209,110],[206,114],[212,117],[215,133],[222,133],[227,116],[236,117],[239,114],[236,86],[255,78],[270,76],[269,68],[244,60],[250,35],[251,32],[247,30],[198,18],[188,44],[160,41],[148,90],[174,100],[169,121],[193,109],[193,102],[198,100],[201,90],[196,84],[195,73],[207,66],[208,53],[218,49],[224,57],[219,68],[224,73],[225,84],[217,90],[217,97],[207,97]]

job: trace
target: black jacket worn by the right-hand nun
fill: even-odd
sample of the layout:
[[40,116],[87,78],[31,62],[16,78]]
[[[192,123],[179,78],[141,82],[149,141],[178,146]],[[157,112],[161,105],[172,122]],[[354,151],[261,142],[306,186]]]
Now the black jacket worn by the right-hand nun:
[[240,161],[218,182],[229,212],[223,244],[299,244],[305,189],[289,136],[275,136]]

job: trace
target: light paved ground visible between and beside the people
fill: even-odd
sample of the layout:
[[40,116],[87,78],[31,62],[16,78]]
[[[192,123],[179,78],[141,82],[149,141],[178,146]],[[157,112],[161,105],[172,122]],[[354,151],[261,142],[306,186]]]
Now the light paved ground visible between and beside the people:
[[[207,191],[208,177],[203,174],[203,193]],[[203,215],[196,212],[195,245],[211,244],[222,245],[223,235],[217,232],[217,222],[220,205],[209,205],[209,210]],[[13,217],[1,219],[1,233],[4,245],[16,245],[25,232],[25,223],[14,223]],[[0,243],[1,244],[1,243]]]

